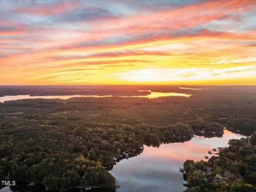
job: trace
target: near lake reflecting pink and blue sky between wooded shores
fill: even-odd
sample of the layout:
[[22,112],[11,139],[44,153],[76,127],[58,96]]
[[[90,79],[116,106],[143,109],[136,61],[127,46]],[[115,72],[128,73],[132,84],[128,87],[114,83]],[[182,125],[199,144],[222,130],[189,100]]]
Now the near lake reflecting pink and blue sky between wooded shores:
[[[228,146],[230,139],[245,137],[238,133],[224,130],[222,137],[204,138],[196,136],[189,141],[162,144],[158,148],[144,146],[143,153],[118,162],[111,174],[120,188],[117,192],[179,192],[183,187],[183,175],[179,168],[187,159],[204,159],[209,150]],[[1,192],[12,191],[5,187]],[[26,191],[26,190],[18,190]]]

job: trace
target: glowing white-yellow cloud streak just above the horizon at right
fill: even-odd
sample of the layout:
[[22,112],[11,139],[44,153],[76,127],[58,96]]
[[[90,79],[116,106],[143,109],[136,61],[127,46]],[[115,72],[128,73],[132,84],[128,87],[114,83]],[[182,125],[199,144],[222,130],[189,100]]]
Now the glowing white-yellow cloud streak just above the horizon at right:
[[[228,78],[230,76],[237,75],[243,72],[246,76],[247,71],[251,72],[251,75],[255,75],[255,66],[244,67],[230,67],[225,69],[216,68],[142,68],[135,70],[128,70],[123,73],[113,74],[119,78],[129,82],[175,82],[175,81],[196,81],[198,79],[207,80],[214,79],[214,76],[221,75],[222,78]],[[253,72],[254,71],[254,72]],[[217,77],[219,78],[219,77]]]

